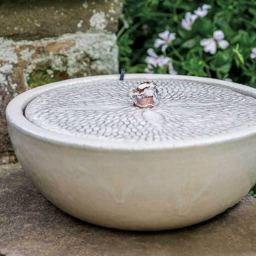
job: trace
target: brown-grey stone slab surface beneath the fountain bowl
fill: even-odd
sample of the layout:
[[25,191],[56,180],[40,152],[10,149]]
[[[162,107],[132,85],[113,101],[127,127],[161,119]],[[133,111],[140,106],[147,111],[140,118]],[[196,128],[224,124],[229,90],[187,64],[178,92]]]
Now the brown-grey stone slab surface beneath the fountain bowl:
[[[206,206],[207,207],[207,206]],[[164,232],[125,232],[67,215],[40,194],[19,164],[0,166],[0,256],[253,256],[256,199]]]

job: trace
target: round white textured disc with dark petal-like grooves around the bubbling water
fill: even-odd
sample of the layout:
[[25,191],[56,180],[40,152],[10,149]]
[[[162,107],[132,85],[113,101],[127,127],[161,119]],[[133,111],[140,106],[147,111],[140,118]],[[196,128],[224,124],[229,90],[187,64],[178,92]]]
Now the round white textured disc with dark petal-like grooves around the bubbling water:
[[256,99],[195,81],[149,80],[160,88],[160,104],[137,108],[132,89],[142,81],[65,85],[34,99],[25,116],[49,131],[120,142],[201,139],[256,125]]

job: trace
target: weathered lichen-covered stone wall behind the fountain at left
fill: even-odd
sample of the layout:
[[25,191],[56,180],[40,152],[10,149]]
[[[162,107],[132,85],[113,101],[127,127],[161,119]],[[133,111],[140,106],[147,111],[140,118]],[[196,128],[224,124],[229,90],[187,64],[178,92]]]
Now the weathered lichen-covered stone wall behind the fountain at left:
[[16,161],[5,110],[49,82],[118,73],[122,0],[0,1],[0,164]]

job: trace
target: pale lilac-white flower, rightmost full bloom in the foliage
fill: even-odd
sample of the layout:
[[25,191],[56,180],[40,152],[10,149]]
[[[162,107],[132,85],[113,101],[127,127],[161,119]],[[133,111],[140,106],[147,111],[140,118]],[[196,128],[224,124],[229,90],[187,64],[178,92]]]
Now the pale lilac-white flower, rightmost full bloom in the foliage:
[[[223,40],[224,33],[221,30],[216,30],[213,33],[213,38],[204,38],[201,40],[200,45],[204,47],[204,52],[215,54],[217,51],[217,44],[221,49],[226,49],[229,45],[227,40]],[[217,44],[216,44],[217,43]]]

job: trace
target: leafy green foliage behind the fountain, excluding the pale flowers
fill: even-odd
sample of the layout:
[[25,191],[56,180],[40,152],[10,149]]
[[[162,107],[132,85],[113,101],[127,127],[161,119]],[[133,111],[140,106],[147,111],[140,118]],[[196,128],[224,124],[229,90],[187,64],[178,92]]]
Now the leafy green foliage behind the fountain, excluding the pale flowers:
[[[193,13],[203,4],[211,6],[207,15],[198,17],[191,30],[184,29],[181,22],[186,12]],[[120,68],[144,72],[146,51],[165,30],[176,33],[176,39],[165,52],[161,47],[154,50],[169,57],[178,74],[231,78],[256,86],[256,59],[250,57],[256,48],[255,0],[125,0],[117,34]],[[217,44],[215,54],[210,54],[200,42],[212,38],[216,30],[224,33],[229,45],[221,49]],[[167,67],[151,66],[151,70],[168,73]]]

